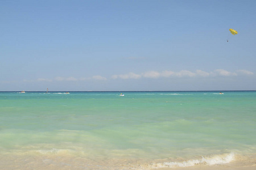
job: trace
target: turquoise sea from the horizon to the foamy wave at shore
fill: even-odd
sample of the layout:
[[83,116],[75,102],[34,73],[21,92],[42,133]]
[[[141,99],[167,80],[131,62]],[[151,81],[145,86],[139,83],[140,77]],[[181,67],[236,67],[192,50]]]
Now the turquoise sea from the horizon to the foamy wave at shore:
[[255,167],[256,91],[222,93],[0,92],[0,169]]

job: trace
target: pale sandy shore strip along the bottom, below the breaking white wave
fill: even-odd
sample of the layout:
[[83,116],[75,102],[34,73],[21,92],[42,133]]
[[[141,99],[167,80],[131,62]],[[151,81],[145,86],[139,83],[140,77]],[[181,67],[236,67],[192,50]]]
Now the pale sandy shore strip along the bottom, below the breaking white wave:
[[[235,159],[229,163],[213,164],[209,165],[207,163],[194,164],[192,166],[187,165],[187,167],[158,167],[152,164],[149,160],[143,159],[125,159],[125,158],[99,158],[90,159],[75,157],[71,155],[23,155],[22,153],[18,155],[0,155],[0,169],[49,169],[49,170],[81,170],[81,169],[158,169],[158,170],[253,170],[256,168],[256,154],[253,154],[252,158],[250,155],[240,156],[236,155]],[[158,162],[158,160],[155,160]],[[160,161],[160,160],[159,160]],[[162,160],[163,161],[163,160]],[[182,163],[182,162],[178,162]],[[159,164],[159,163],[158,163]]]

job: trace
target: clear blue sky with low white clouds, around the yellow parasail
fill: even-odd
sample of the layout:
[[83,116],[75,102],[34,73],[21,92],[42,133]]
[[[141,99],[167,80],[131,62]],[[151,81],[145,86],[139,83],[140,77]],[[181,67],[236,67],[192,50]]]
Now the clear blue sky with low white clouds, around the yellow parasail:
[[255,6],[3,0],[0,91],[256,90]]

